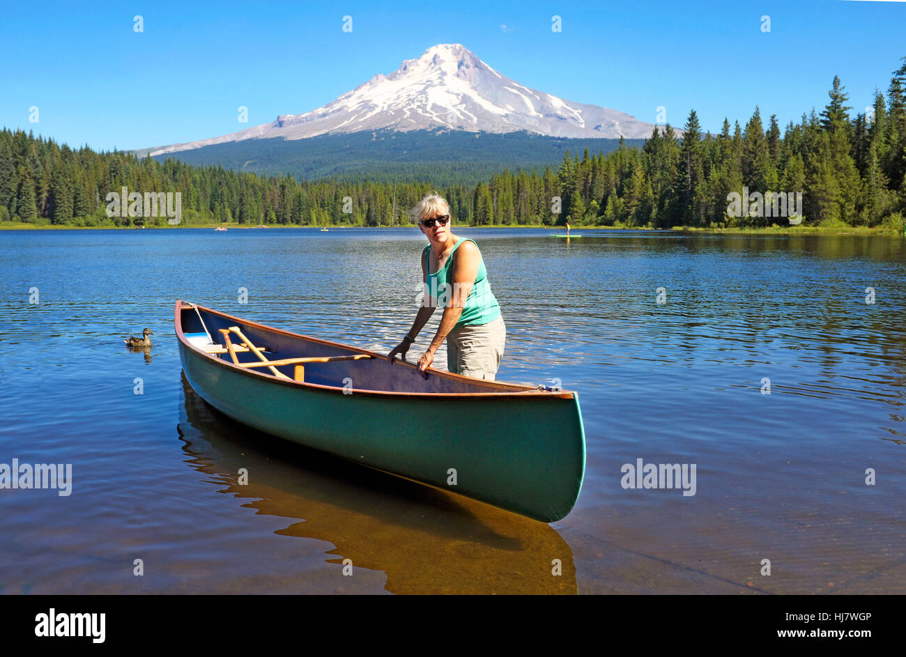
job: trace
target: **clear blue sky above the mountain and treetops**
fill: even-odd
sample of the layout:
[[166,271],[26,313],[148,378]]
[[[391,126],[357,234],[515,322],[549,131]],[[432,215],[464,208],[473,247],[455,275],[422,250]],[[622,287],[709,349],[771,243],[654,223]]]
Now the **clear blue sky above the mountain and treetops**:
[[[352,33],[342,32],[346,14]],[[0,126],[97,150],[200,140],[313,110],[437,43],[462,43],[527,87],[643,121],[663,106],[681,126],[695,109],[718,131],[724,116],[745,124],[759,105],[783,127],[820,111],[834,74],[853,111],[875,87],[886,92],[906,56],[906,2],[4,0]]]

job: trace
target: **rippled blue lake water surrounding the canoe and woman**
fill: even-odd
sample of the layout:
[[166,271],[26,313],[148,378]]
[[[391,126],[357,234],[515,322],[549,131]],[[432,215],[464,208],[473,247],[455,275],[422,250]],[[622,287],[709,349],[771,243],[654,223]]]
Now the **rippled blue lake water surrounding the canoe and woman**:
[[[389,351],[416,311],[415,229],[4,231],[0,464],[73,474],[68,497],[0,489],[0,592],[906,592],[901,238],[453,230],[503,308],[498,378],[579,391],[570,516],[284,445],[184,384],[178,298]],[[636,459],[696,464],[696,494],[622,488]]]

